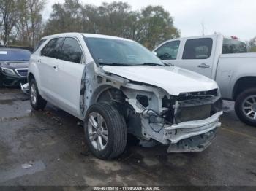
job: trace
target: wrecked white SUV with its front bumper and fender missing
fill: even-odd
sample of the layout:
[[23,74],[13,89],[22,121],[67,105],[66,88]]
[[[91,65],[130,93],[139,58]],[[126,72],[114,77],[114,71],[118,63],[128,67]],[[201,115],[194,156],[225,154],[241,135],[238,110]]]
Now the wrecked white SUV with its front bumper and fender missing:
[[137,42],[97,34],[56,34],[31,55],[31,106],[47,101],[84,121],[100,159],[120,155],[127,133],[167,152],[200,152],[220,126],[217,83],[168,66]]

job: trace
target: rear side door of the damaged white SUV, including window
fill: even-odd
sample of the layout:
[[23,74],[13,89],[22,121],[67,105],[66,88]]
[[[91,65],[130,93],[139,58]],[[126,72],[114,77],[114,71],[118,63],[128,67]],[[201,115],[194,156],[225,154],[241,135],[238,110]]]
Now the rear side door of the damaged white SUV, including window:
[[53,103],[56,101],[55,88],[58,85],[56,82],[56,69],[54,67],[58,61],[63,40],[64,38],[51,39],[42,48],[41,56],[38,60],[40,88],[48,101]]

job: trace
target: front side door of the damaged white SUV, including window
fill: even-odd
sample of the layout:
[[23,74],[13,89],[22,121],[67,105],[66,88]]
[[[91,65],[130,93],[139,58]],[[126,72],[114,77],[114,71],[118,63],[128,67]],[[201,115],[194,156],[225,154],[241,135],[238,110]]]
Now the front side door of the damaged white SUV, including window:
[[80,87],[85,64],[82,63],[83,49],[75,37],[66,37],[56,62],[56,86],[62,109],[76,116],[80,112]]

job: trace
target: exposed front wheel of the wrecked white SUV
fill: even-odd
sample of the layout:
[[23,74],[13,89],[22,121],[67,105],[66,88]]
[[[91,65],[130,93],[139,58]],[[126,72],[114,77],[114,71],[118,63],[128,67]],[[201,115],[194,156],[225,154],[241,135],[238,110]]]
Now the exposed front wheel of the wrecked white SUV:
[[110,103],[92,105],[84,122],[86,143],[95,157],[110,160],[124,152],[127,127],[124,117]]

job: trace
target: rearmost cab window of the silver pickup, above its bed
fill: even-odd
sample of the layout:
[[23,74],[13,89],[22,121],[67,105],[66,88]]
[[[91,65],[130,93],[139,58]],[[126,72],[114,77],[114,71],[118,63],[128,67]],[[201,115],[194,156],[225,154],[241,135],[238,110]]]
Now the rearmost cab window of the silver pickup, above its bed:
[[223,39],[222,54],[246,53],[247,48],[244,42],[236,39]]

